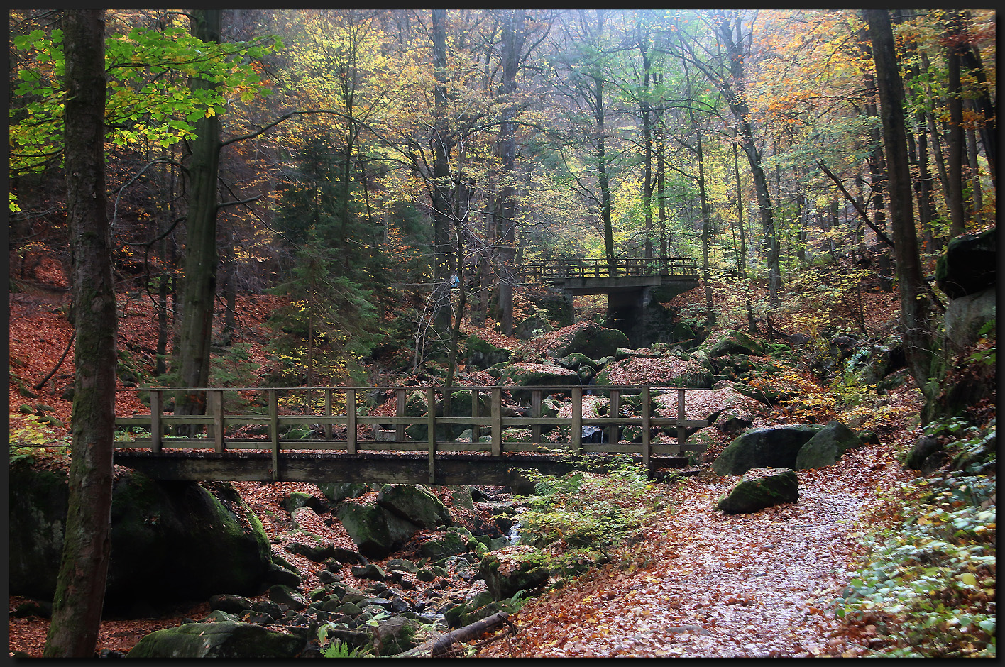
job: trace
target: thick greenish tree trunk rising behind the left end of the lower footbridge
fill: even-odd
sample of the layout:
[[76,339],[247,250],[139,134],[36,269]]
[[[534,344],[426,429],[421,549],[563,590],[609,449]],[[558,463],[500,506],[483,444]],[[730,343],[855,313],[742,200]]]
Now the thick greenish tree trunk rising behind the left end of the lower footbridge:
[[[192,10],[192,33],[203,41],[219,41],[219,9]],[[216,84],[196,79],[192,87],[212,88]],[[196,124],[189,163],[191,197],[186,218],[184,285],[179,304],[180,323],[177,350],[180,389],[205,387],[209,383],[209,354],[213,335],[213,305],[216,296],[216,181],[220,162],[220,117],[211,115]],[[198,415],[206,408],[205,392],[179,392],[175,414]]]

